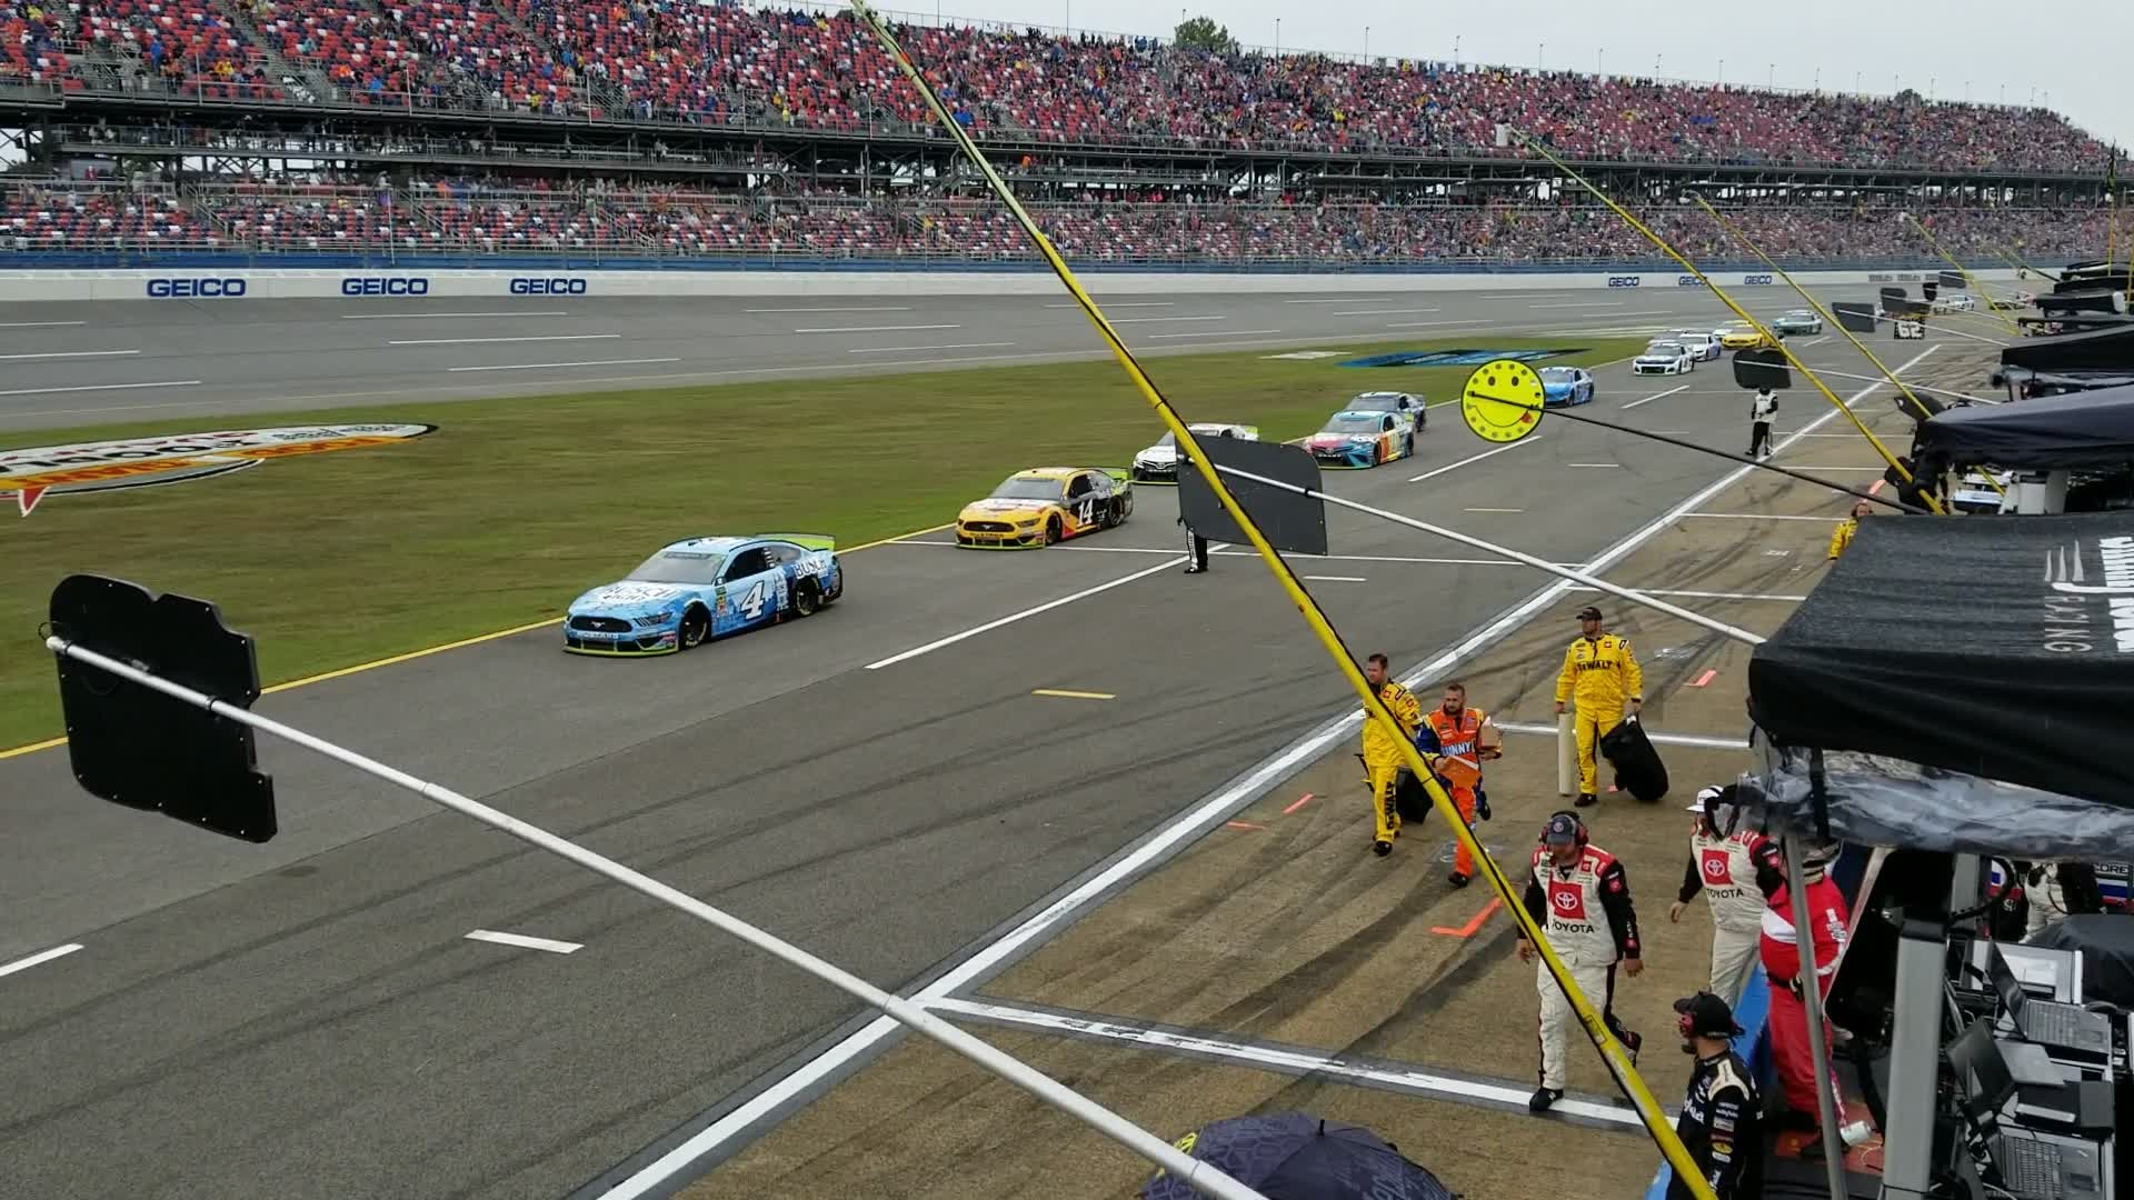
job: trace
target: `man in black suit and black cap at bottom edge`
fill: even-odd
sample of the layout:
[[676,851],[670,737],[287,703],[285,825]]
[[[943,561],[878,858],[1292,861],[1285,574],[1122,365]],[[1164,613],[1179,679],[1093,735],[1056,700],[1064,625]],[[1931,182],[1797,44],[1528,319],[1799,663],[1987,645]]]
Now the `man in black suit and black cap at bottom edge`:
[[[1763,1196],[1763,1098],[1756,1076],[1733,1038],[1741,1036],[1726,1001],[1701,991],[1675,1001],[1675,1029],[1682,1031],[1682,1053],[1697,1059],[1690,1072],[1690,1095],[1682,1102],[1675,1134],[1697,1159],[1705,1185],[1718,1200],[1758,1200]],[[1690,1200],[1694,1191],[1679,1174],[1667,1183],[1667,1200]]]

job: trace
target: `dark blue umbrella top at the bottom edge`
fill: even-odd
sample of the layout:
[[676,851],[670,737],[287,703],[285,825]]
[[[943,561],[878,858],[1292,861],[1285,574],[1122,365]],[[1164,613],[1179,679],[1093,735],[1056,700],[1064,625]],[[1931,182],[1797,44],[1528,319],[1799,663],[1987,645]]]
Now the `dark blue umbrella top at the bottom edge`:
[[[1178,1149],[1268,1200],[1460,1200],[1370,1130],[1304,1112],[1214,1121],[1180,1138]],[[1142,1200],[1197,1198],[1167,1172],[1142,1187]]]

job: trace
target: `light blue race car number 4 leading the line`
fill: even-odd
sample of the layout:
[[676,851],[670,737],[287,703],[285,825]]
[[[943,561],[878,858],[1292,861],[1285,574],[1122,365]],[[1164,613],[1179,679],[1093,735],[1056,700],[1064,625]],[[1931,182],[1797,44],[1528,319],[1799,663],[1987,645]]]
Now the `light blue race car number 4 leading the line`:
[[813,534],[689,538],[627,579],[570,602],[570,653],[676,653],[711,638],[809,617],[845,594],[837,542]]

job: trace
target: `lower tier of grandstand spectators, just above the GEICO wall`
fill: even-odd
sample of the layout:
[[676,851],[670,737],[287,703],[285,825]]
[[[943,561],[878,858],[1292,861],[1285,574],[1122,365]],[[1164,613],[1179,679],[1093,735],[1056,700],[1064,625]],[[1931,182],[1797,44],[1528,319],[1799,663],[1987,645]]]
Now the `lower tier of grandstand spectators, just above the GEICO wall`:
[[[506,190],[508,188],[508,190]],[[990,201],[715,194],[435,177],[418,186],[9,184],[0,250],[384,250],[792,254],[819,258],[1029,258]],[[1647,243],[1594,205],[1033,203],[1071,258],[1088,263],[1628,263]],[[1697,258],[1743,258],[1701,209],[1641,214]],[[1923,258],[1899,209],[1748,205],[1729,214],[1780,260]],[[1927,207],[1953,254],[2064,254],[2098,246],[2100,209]]]

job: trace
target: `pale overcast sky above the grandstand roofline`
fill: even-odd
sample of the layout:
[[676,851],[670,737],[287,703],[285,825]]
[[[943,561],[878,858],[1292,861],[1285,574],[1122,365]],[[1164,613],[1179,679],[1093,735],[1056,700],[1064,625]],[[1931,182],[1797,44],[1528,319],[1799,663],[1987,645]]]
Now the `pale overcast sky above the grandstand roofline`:
[[[1116,34],[1169,36],[1174,2],[1140,0],[939,0],[945,15]],[[879,0],[881,9],[924,13],[926,0]],[[1323,49],[1387,58],[1453,58],[1511,66],[1654,73],[1671,79],[1724,79],[1780,88],[1889,94],[1916,88],[1944,100],[2025,105],[2036,90],[2051,107],[2104,141],[2134,145],[2134,4],[1876,4],[1861,0],[1786,0],[1686,4],[1671,0],[1204,0],[1187,4],[1229,26],[1253,47]],[[2074,17],[2079,13],[2079,17]],[[1276,19],[1280,34],[1276,34]],[[1366,47],[1366,28],[1370,45]],[[1720,66],[1724,60],[1724,68]],[[2055,66],[2070,64],[2068,70]],[[2115,94],[2117,92],[2117,94]],[[2102,164],[2100,164],[2102,169]]]

